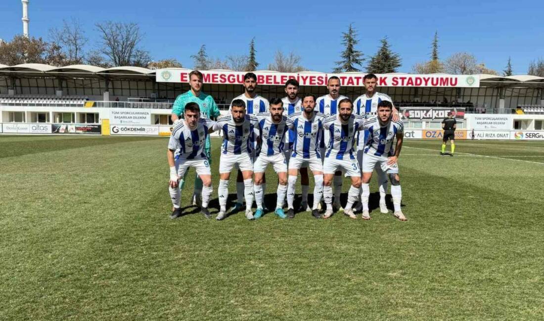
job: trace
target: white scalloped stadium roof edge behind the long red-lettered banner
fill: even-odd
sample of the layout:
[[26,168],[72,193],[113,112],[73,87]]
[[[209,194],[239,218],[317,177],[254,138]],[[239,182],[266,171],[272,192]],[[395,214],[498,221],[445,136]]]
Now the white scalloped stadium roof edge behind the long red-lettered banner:
[[[190,70],[188,68],[169,68],[173,70]],[[213,71],[228,71],[216,69]],[[117,78],[128,80],[150,80],[154,79],[157,70],[143,67],[121,66],[112,68],[101,68],[91,65],[70,65],[64,67],[54,67],[44,64],[21,64],[15,66],[6,66],[0,64],[0,76],[10,75],[11,77],[73,77],[73,78]],[[259,70],[258,72],[276,73],[272,70]],[[324,73],[314,71],[301,71],[300,73]],[[349,73],[349,72],[348,72]],[[407,74],[407,73],[390,73]],[[448,75],[446,73],[436,73],[434,75]],[[483,85],[541,85],[544,84],[544,77],[533,75],[513,75],[503,77],[492,74],[479,74],[480,82]]]

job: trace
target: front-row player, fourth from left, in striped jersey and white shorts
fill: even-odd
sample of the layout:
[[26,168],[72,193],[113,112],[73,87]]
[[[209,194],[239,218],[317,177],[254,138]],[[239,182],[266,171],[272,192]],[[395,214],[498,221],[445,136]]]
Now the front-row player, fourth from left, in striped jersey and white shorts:
[[293,200],[295,198],[296,175],[302,166],[310,166],[316,185],[313,188],[312,215],[320,218],[318,206],[323,196],[323,154],[320,153],[319,143],[323,140],[323,122],[325,115],[317,112],[316,96],[307,94],[302,98],[304,111],[294,112],[289,116],[293,121],[295,139],[293,154],[289,159],[289,180],[287,187],[287,217],[295,216]]

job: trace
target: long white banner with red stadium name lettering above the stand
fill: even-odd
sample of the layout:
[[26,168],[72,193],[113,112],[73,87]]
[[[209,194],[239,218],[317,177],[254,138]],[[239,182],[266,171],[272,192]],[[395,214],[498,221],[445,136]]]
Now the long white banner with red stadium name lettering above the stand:
[[[188,83],[191,70],[175,68],[158,69],[157,83]],[[243,84],[245,72],[201,71],[205,84]],[[323,72],[274,72],[255,71],[257,84],[283,86],[288,79],[296,79],[301,86],[325,86],[329,78],[340,78],[342,86],[363,86],[365,73],[323,73]],[[378,74],[378,86],[385,87],[479,87],[478,75],[450,74]]]

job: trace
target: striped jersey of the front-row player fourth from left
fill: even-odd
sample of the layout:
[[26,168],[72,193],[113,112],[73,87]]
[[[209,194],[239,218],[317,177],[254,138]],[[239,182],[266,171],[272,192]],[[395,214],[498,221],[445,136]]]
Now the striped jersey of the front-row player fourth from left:
[[319,154],[319,143],[323,140],[323,122],[325,115],[314,112],[308,119],[303,112],[295,112],[289,118],[293,121],[295,140],[293,143],[293,157],[302,156],[303,159],[322,158]]

